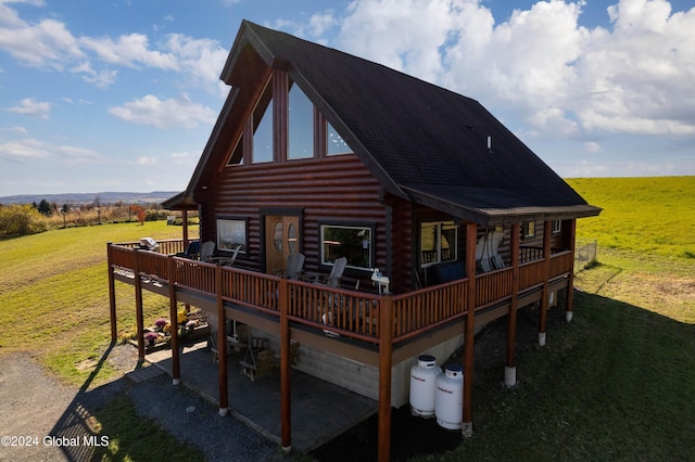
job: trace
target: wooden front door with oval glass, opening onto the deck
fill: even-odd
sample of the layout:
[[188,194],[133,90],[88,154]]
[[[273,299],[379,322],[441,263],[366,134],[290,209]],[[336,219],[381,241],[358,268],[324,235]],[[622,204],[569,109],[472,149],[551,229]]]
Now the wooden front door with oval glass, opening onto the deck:
[[275,274],[287,268],[287,257],[300,252],[300,219],[294,216],[265,217],[265,268]]

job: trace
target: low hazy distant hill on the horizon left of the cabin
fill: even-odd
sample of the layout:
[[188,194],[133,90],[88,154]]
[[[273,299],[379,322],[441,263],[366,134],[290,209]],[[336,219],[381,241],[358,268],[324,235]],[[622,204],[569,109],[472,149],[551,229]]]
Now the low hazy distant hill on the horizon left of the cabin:
[[99,193],[64,193],[64,194],[20,194],[0,197],[0,204],[31,204],[39,203],[43,200],[55,203],[59,206],[63,204],[93,204],[97,198],[102,205],[115,204],[123,202],[126,204],[149,204],[160,203],[178,194],[180,191],[153,191],[149,193],[137,192],[99,192]]

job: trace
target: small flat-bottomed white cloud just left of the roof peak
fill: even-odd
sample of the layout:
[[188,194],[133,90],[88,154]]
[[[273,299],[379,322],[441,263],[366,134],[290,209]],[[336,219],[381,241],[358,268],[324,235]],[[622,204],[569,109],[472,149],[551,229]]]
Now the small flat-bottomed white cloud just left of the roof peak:
[[199,123],[213,124],[217,117],[215,111],[201,104],[193,103],[188,95],[178,99],[160,100],[148,94],[132,100],[119,107],[112,107],[109,112],[134,124],[148,125],[156,128],[194,128]]

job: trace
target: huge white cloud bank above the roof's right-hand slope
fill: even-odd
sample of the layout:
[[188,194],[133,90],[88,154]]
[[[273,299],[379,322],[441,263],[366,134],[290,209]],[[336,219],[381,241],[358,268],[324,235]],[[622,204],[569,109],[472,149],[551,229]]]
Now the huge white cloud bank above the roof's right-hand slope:
[[620,0],[609,29],[589,29],[583,1],[539,1],[498,23],[485,4],[356,0],[338,48],[514,115],[535,136],[695,134],[695,9]]

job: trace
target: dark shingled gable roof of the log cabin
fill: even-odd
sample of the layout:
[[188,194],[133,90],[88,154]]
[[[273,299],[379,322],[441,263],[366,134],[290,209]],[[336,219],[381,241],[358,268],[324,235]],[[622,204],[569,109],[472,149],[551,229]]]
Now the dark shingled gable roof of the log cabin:
[[228,85],[248,73],[250,48],[288,72],[393,194],[481,224],[599,213],[470,98],[247,21]]

